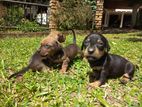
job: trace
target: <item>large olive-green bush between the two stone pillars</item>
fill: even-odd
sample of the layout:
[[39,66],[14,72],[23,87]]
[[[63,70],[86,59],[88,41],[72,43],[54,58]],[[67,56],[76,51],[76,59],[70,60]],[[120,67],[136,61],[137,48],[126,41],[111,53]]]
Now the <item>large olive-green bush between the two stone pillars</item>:
[[91,6],[82,0],[63,0],[58,12],[60,29],[90,29],[93,11]]

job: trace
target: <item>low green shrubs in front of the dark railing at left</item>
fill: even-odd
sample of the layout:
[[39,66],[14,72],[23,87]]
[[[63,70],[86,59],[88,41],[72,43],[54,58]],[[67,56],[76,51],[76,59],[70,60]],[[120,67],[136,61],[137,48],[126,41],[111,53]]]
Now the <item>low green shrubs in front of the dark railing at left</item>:
[[[30,32],[30,31],[43,31],[45,29],[41,28],[39,24],[35,21],[29,21],[23,18],[24,9],[22,7],[12,6],[7,9],[7,15],[0,19],[1,26],[14,26],[20,31]],[[16,30],[17,30],[16,29]]]

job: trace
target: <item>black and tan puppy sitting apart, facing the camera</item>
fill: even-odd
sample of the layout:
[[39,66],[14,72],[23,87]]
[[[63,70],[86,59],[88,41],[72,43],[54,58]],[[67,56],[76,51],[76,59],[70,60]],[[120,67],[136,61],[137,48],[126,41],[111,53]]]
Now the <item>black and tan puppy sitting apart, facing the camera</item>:
[[134,74],[134,65],[127,59],[109,54],[107,39],[97,33],[89,34],[83,41],[82,50],[93,72],[89,74],[90,86],[98,87],[108,78],[121,77],[122,83],[127,83]]

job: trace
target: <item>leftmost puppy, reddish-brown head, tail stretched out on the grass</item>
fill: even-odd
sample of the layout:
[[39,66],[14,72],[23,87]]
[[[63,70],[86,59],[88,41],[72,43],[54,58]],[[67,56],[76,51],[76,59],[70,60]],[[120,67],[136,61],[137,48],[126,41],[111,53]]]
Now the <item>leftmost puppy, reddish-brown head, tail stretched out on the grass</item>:
[[19,72],[12,74],[8,79],[12,77],[21,77],[29,69],[32,71],[49,71],[52,65],[53,55],[60,50],[61,45],[56,40],[57,38],[46,37],[41,41],[40,48],[32,55],[27,67],[24,67]]

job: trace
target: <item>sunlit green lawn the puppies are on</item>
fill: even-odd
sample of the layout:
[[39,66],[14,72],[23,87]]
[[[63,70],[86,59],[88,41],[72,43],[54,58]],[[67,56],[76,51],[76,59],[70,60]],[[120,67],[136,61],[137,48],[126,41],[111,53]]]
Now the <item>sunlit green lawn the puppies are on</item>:
[[[74,60],[68,75],[59,69],[53,73],[28,72],[22,81],[7,80],[11,72],[26,66],[43,37],[7,37],[0,39],[0,107],[142,107],[142,41],[137,33],[106,34],[111,45],[110,53],[126,57],[139,66],[134,81],[122,85],[111,79],[104,86],[89,90],[88,63]],[[84,35],[77,36],[81,46]],[[67,37],[65,45],[72,42]]]

